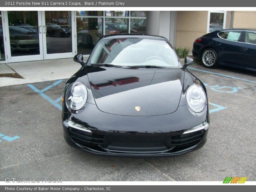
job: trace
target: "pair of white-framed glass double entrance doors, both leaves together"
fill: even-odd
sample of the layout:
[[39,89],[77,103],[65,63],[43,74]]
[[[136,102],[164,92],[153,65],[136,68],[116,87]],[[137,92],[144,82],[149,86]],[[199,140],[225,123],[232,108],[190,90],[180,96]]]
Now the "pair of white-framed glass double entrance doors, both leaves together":
[[70,58],[76,54],[75,24],[71,23],[74,12],[6,11],[2,14],[8,62]]

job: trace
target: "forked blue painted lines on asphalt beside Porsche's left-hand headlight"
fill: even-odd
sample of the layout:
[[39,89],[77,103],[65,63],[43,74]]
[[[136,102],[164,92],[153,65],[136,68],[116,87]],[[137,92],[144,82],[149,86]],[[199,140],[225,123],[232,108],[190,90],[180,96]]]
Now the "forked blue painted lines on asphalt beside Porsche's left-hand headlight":
[[28,84],[28,86],[33,89],[35,92],[37,92],[40,96],[42,96],[44,99],[46,99],[47,101],[49,101],[52,105],[54,105],[55,107],[57,107],[58,109],[61,110],[61,105],[58,103],[61,100],[60,96],[58,99],[56,100],[52,100],[50,97],[48,97],[47,95],[44,94],[45,91],[47,91],[48,89],[52,88],[53,86],[59,84],[60,82],[62,82],[63,80],[58,80],[55,83],[53,83],[52,85],[49,85],[48,87],[45,87],[44,89],[42,89],[41,91],[38,90],[34,85],[32,84]]

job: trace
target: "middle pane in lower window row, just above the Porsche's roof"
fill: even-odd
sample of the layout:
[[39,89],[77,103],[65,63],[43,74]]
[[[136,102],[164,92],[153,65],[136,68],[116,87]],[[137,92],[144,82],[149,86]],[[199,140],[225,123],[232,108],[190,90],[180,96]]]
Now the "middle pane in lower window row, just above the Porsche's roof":
[[106,18],[105,34],[128,33],[128,19]]

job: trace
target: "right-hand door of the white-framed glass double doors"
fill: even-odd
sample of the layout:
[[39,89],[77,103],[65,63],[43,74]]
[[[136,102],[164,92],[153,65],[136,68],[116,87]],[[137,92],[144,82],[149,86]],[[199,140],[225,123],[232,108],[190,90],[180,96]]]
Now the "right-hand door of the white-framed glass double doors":
[[[74,14],[74,13],[73,13]],[[43,11],[44,59],[70,58],[75,55],[74,15],[71,11]]]

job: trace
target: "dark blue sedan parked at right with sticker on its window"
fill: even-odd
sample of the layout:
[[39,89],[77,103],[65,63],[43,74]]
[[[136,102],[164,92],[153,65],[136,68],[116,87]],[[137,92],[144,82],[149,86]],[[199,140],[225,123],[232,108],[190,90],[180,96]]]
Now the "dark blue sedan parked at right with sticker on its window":
[[193,56],[207,68],[219,64],[256,70],[256,30],[222,29],[197,38]]

